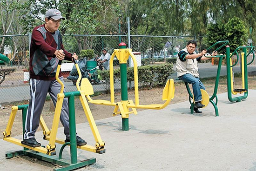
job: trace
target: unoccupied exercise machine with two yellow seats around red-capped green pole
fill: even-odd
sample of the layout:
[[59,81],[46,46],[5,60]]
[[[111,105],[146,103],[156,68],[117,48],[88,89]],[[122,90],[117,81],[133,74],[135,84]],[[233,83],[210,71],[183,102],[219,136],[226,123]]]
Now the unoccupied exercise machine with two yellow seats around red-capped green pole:
[[[120,63],[120,74],[121,74],[121,101],[115,102],[114,95],[114,69],[113,69],[113,60],[114,57],[117,57]],[[127,60],[131,56],[134,63],[134,84],[135,84],[135,104],[133,100],[128,100],[128,89],[127,89]],[[136,108],[144,109],[163,109],[166,107],[171,99],[174,98],[174,80],[168,79],[166,85],[163,89],[162,100],[165,101],[163,104],[152,104],[152,105],[140,105],[139,103],[139,88],[138,88],[138,68],[135,55],[132,53],[132,49],[126,48],[125,43],[119,44],[119,49],[115,49],[110,58],[110,101],[108,100],[94,100],[90,95],[94,94],[93,87],[90,84],[88,79],[82,79],[81,81],[81,90],[85,92],[85,95],[89,103],[97,105],[113,105],[115,106],[113,116],[120,114],[122,117],[122,131],[129,130],[128,118],[129,114],[137,114]],[[129,110],[131,108],[131,111]],[[118,109],[120,111],[118,111]]]

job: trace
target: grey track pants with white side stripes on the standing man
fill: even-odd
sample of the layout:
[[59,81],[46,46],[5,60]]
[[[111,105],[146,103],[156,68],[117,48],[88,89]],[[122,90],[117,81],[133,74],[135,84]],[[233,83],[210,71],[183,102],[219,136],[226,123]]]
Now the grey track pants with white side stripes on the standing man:
[[[60,78],[64,83],[63,77]],[[25,122],[24,139],[33,138],[39,126],[40,115],[43,110],[47,92],[56,106],[57,94],[61,92],[61,85],[57,80],[46,81],[39,79],[30,79],[30,102],[27,109]],[[64,89],[65,92],[65,89]],[[64,98],[61,109],[61,124],[64,126],[64,134],[69,137],[69,119],[68,119],[68,101]]]

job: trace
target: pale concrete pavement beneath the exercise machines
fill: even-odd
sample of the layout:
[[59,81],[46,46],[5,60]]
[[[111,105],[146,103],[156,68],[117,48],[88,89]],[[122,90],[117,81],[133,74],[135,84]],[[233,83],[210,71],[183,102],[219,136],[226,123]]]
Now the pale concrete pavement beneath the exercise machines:
[[[127,132],[121,131],[119,116],[97,120],[106,153],[78,150],[79,159],[97,160],[79,171],[256,171],[256,90],[249,90],[248,98],[239,103],[230,103],[227,93],[218,94],[218,99],[220,117],[215,117],[211,104],[202,114],[191,115],[186,101],[130,115]],[[64,137],[62,132],[59,128],[59,138]],[[94,144],[88,123],[78,124],[77,132]],[[41,132],[36,137],[47,145]],[[19,149],[0,140],[1,171],[53,170],[25,159],[4,158],[6,151]],[[64,152],[69,158],[69,148]]]

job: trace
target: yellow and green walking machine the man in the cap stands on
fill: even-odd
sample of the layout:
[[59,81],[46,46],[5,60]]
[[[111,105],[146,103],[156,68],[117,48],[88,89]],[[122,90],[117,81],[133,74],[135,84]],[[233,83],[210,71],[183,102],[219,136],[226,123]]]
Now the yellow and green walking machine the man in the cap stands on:
[[[74,60],[75,61],[75,60]],[[76,87],[77,90],[76,92],[64,92],[64,84],[61,82],[59,79],[59,73],[61,69],[61,61],[59,61],[59,65],[57,67],[57,72],[56,72],[56,80],[61,84],[61,92],[58,93],[57,95],[57,103],[55,107],[55,112],[54,112],[54,119],[53,119],[53,125],[52,129],[49,130],[47,128],[47,125],[43,119],[43,117],[40,117],[40,125],[43,129],[43,135],[44,139],[49,141],[49,144],[46,147],[40,146],[40,147],[30,147],[27,145],[21,144],[21,140],[17,138],[12,138],[11,137],[11,129],[13,126],[14,118],[16,116],[16,113],[18,110],[22,110],[22,121],[23,121],[23,133],[24,133],[24,124],[26,120],[26,114],[27,114],[27,107],[28,105],[20,105],[20,106],[13,106],[12,107],[12,112],[11,116],[9,118],[7,128],[3,132],[4,135],[4,140],[11,142],[16,145],[20,145],[24,147],[24,150],[22,151],[15,151],[12,153],[7,153],[6,157],[7,158],[12,158],[17,155],[28,155],[28,156],[33,156],[35,158],[39,158],[42,160],[46,160],[47,162],[52,162],[55,164],[60,164],[60,165],[65,165],[65,168],[63,167],[63,170],[73,170],[79,167],[83,167],[88,164],[92,164],[96,162],[95,158],[90,158],[85,161],[77,162],[77,148],[81,150],[86,150],[86,151],[91,151],[95,153],[102,154],[105,152],[104,145],[105,143],[102,141],[101,136],[99,134],[98,128],[95,124],[93,115],[90,111],[88,102],[86,100],[84,92],[81,90],[79,86],[79,82],[81,80],[81,72],[79,69],[78,64],[75,61],[75,66],[76,69],[79,73],[79,78],[78,81],[76,82]],[[76,128],[75,128],[75,112],[74,112],[74,97],[79,96],[81,105],[83,106],[85,115],[88,119],[88,123],[90,125],[90,128],[93,132],[94,139],[95,139],[95,145],[83,145],[83,146],[77,146],[76,145]],[[69,129],[70,129],[70,142],[65,143],[63,139],[56,138],[57,135],[57,129],[60,121],[60,116],[61,116],[61,107],[63,103],[63,99],[68,98],[68,108],[69,108]],[[53,157],[53,155],[56,154],[55,148],[56,145],[55,143],[63,144],[59,153],[59,158]],[[62,157],[62,151],[65,146],[70,145],[70,155],[71,155],[71,163],[63,161]],[[38,153],[39,152],[39,153]],[[55,170],[62,170],[62,168],[58,168]]]

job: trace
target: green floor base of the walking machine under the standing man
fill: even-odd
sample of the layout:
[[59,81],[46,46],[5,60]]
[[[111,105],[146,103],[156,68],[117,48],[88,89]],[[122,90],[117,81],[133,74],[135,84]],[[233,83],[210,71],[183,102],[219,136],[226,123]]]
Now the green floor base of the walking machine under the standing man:
[[13,151],[13,152],[9,152],[5,154],[5,157],[7,159],[9,158],[13,158],[16,156],[21,156],[21,155],[25,155],[28,157],[34,157],[49,163],[54,163],[54,164],[59,164],[63,167],[60,168],[56,168],[54,169],[54,171],[71,171],[74,169],[78,169],[84,166],[87,166],[89,164],[94,164],[96,163],[96,158],[89,158],[80,162],[77,162],[75,164],[71,164],[70,162],[68,162],[65,159],[59,159],[56,156],[48,156],[47,154],[43,154],[37,151],[33,151],[33,150],[20,150],[20,151]]

